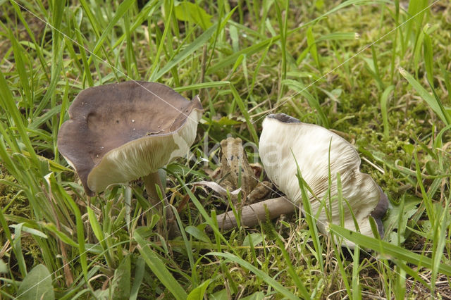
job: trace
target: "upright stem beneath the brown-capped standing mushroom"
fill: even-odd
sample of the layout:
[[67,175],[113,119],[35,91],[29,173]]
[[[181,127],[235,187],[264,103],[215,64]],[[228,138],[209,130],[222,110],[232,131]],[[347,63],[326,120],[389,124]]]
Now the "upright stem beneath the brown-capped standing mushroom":
[[[173,211],[171,210],[171,208],[169,208],[169,202],[168,199],[166,199],[166,193],[164,192],[164,187],[161,184],[161,180],[160,180],[160,175],[157,172],[154,173],[150,173],[147,176],[144,176],[144,186],[146,187],[146,191],[147,191],[147,196],[149,197],[149,201],[152,204],[152,206],[155,206],[158,213],[163,216],[163,208],[168,208],[166,209],[166,220],[168,221],[168,229],[171,235],[171,231],[174,230],[175,228],[173,228],[174,226],[176,227],[176,223],[175,223],[175,219],[174,219],[174,214]],[[156,192],[156,187],[155,185],[158,185],[160,190],[161,190],[161,194],[163,196],[163,208],[161,208],[161,206],[159,206],[159,204],[161,204],[160,198],[158,196],[158,193]]]

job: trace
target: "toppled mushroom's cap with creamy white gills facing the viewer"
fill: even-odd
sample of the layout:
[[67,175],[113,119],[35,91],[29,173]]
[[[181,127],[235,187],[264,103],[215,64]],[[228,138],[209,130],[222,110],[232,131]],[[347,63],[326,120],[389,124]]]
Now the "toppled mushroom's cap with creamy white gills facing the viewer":
[[[318,125],[300,123],[283,113],[268,115],[263,122],[259,155],[268,177],[295,204],[302,204],[302,192],[297,180],[297,164],[302,178],[311,188],[307,193],[316,225],[328,234],[328,218],[321,201],[330,211],[331,221],[340,225],[337,173],[340,174],[344,227],[356,230],[354,218],[364,235],[373,237],[369,215],[373,215],[383,236],[381,218],[388,207],[382,189],[368,175],[361,173],[360,158],[345,139]],[[330,163],[329,163],[330,161]],[[330,202],[328,199],[330,170]],[[352,213],[346,201],[352,208]],[[329,204],[330,203],[330,204]],[[303,211],[303,210],[302,210]],[[304,211],[303,211],[304,213]],[[354,244],[343,241],[348,246]]]

